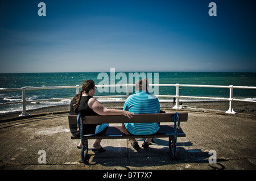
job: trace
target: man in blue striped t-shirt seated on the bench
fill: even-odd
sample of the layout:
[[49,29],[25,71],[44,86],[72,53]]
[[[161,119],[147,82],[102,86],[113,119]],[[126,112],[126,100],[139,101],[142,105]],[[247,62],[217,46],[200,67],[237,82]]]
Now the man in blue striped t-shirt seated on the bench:
[[[137,113],[159,113],[160,103],[155,95],[151,95],[148,92],[148,79],[140,79],[135,85],[135,94],[130,95],[125,104],[123,105],[123,110],[130,111],[135,114]],[[158,123],[125,123],[122,124],[126,128],[126,134],[134,135],[150,135],[158,132]],[[150,141],[152,138],[147,138],[142,147],[148,149]],[[137,151],[141,151],[138,142],[135,139],[130,139],[131,145]]]

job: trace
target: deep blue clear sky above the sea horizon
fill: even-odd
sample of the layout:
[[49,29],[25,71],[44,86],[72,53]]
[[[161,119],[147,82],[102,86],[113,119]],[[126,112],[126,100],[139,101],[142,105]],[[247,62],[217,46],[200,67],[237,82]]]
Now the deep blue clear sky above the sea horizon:
[[[39,2],[46,16],[39,16]],[[217,16],[209,16],[210,2]],[[256,71],[256,1],[1,1],[0,73]]]

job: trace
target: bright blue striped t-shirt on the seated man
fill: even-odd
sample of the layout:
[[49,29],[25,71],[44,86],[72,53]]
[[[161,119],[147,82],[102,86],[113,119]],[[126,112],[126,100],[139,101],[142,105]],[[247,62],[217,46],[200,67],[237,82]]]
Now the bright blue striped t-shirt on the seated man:
[[[151,95],[148,91],[137,91],[130,95],[123,110],[138,113],[159,113],[160,104],[155,95]],[[149,135],[158,132],[158,123],[125,123],[125,127],[129,133],[134,135]]]

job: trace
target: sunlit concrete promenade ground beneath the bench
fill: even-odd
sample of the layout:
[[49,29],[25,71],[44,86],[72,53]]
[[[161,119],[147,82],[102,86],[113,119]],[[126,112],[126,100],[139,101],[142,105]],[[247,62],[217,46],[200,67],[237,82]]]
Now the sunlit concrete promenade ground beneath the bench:
[[[179,112],[166,109],[166,112]],[[171,161],[168,139],[155,139],[150,150],[135,151],[129,140],[102,140],[104,153],[89,150],[88,164],[79,163],[79,140],[71,140],[68,113],[56,112],[0,121],[0,168],[3,170],[254,170],[256,169],[256,117],[216,112],[188,112],[181,122],[186,137],[177,138],[179,160]],[[93,140],[89,140],[92,148]],[[139,145],[143,143],[138,140]],[[46,163],[39,163],[39,150]],[[217,163],[209,163],[210,150]]]

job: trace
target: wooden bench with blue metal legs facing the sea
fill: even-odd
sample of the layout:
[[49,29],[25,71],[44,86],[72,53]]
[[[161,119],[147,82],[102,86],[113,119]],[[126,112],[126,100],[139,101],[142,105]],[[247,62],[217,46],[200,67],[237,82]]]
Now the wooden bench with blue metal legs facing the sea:
[[68,115],[69,126],[77,124],[81,130],[86,124],[103,124],[103,123],[162,123],[162,122],[174,122],[171,125],[161,125],[157,133],[151,135],[133,135],[125,134],[122,125],[112,126],[109,125],[104,131],[95,134],[93,136],[71,136],[71,139],[81,139],[82,161],[88,162],[88,140],[89,139],[126,139],[126,138],[169,138],[169,150],[171,159],[176,159],[176,140],[177,137],[185,137],[185,133],[179,127],[180,121],[187,121],[188,113],[147,113],[147,114],[135,114],[133,118],[129,119],[127,116],[115,115],[115,116],[81,116],[81,115]]

